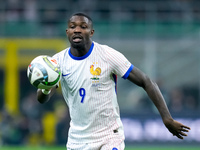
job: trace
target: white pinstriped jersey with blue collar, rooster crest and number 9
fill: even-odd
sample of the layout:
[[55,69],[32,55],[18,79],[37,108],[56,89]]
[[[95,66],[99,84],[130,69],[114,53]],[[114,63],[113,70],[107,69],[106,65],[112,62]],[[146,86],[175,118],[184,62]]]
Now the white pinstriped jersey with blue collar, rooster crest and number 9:
[[124,139],[116,77],[126,79],[133,65],[120,52],[96,42],[82,57],[74,57],[70,48],[53,57],[61,67],[62,93],[71,116],[68,142],[95,142],[115,134]]

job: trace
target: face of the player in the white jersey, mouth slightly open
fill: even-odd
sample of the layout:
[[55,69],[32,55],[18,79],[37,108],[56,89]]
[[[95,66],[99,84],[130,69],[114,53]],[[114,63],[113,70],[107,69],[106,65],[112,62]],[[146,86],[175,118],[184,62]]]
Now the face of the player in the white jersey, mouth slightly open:
[[84,16],[73,16],[68,22],[66,30],[69,42],[73,48],[85,47],[90,43],[94,33],[90,20]]

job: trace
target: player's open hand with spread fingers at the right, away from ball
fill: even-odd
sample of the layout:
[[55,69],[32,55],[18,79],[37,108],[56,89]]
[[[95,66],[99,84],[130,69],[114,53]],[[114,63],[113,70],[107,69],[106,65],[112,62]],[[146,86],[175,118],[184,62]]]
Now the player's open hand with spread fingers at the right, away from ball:
[[168,121],[164,121],[165,126],[167,129],[174,135],[177,136],[179,139],[184,139],[183,136],[187,136],[185,132],[189,132],[190,127],[183,125],[182,123],[170,119]]

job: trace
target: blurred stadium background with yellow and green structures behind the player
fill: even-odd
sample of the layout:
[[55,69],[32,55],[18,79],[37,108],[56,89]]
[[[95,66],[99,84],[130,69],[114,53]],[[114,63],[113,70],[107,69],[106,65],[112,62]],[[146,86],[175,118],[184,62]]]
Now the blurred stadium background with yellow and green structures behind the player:
[[40,105],[26,69],[34,57],[69,45],[66,22],[77,11],[93,18],[93,40],[156,80],[172,116],[192,128],[183,141],[173,137],[145,92],[119,79],[127,146],[199,147],[199,6],[199,0],[0,0],[0,149],[65,146],[70,119],[61,90]]

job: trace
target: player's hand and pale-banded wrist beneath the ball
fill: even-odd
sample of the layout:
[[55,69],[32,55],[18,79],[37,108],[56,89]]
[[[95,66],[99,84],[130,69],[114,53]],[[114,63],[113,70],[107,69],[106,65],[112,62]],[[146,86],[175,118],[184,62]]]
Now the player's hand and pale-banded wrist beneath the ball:
[[[50,90],[43,90],[38,89],[37,90],[37,100],[43,104],[49,101],[51,96],[55,93],[57,86],[51,88]],[[49,92],[48,92],[49,91]]]

